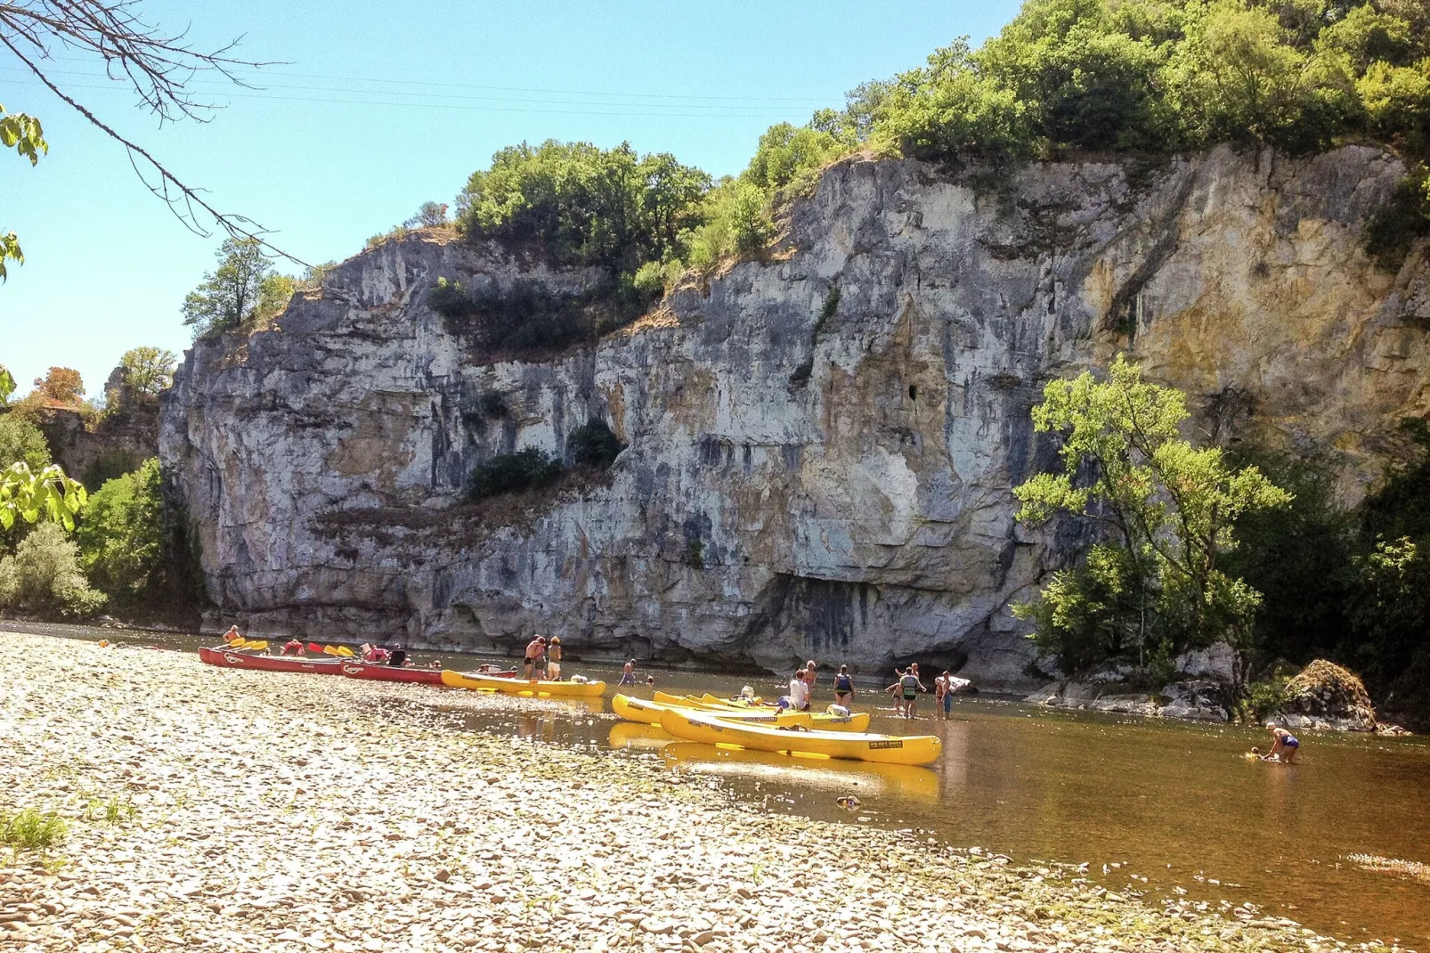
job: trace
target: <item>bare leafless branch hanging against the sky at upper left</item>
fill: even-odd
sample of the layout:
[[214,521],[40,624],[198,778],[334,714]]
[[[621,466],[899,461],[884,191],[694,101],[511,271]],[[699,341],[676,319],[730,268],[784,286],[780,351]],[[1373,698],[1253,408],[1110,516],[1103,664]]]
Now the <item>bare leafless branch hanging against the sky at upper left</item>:
[[54,59],[56,47],[96,56],[104,62],[109,77],[129,83],[143,106],[159,116],[160,123],[179,119],[209,120],[209,113],[216,106],[194,99],[189,89],[189,82],[199,73],[213,70],[236,86],[253,89],[240,79],[237,70],[272,66],[232,56],[239,40],[204,53],[196,50],[186,37],[187,30],[169,36],[147,23],[139,13],[139,0],[0,0],[0,44],[90,124],[123,145],[140,182],[169,206],[184,228],[209,238],[213,232],[206,222],[212,219],[230,238],[255,239],[275,256],[307,266],[307,262],[269,242],[265,236],[272,232],[252,219],[213,207],[199,195],[202,189],[182,182],[149,150],[69,96],[43,66]]

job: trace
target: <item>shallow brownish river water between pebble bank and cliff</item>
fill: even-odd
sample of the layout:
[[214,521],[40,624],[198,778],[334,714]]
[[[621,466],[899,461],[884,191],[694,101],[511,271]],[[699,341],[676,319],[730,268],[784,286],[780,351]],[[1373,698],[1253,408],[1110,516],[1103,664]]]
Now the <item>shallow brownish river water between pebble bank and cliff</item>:
[[[189,635],[4,627],[186,651],[197,645]],[[463,657],[452,667],[475,661]],[[1020,863],[1087,863],[1090,876],[1110,890],[1143,894],[1153,904],[1253,903],[1263,914],[1346,940],[1381,939],[1430,950],[1430,743],[1421,737],[1304,733],[1298,764],[1281,766],[1243,757],[1253,744],[1267,747],[1266,733],[1253,727],[1060,713],[981,697],[960,697],[948,721],[932,717],[928,698],[921,701],[921,717],[908,723],[887,710],[887,695],[864,693],[854,707],[874,713],[871,730],[937,734],[944,743],[940,761],[928,768],[807,763],[671,741],[659,728],[618,721],[609,697],[619,671],[569,661],[566,670],[605,678],[606,698],[469,715],[468,727],[658,760],[674,771],[715,778],[769,810],[911,829],[919,837],[985,847]],[[778,694],[772,683],[749,677],[665,670],[655,675],[656,688],[671,693],[728,695],[754,684],[762,694]],[[831,700],[828,685],[825,675],[815,688],[817,703]],[[376,694],[388,688],[372,687]],[[654,688],[628,691],[649,698]],[[432,697],[440,707],[440,691]],[[845,794],[859,798],[858,810],[835,803]]]

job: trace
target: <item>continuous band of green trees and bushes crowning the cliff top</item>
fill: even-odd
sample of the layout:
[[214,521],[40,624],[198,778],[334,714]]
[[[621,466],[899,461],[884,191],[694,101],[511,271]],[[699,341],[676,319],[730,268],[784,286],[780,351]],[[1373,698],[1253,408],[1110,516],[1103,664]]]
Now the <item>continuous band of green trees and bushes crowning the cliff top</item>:
[[[523,143],[472,175],[456,222],[654,292],[686,266],[759,255],[789,200],[859,152],[1005,167],[1364,140],[1419,163],[1430,153],[1427,24],[1427,0],[1030,0],[978,49],[955,40],[864,83],[841,110],[772,126],[739,176],[715,182],[629,145]],[[1424,220],[1416,182],[1397,235]]]

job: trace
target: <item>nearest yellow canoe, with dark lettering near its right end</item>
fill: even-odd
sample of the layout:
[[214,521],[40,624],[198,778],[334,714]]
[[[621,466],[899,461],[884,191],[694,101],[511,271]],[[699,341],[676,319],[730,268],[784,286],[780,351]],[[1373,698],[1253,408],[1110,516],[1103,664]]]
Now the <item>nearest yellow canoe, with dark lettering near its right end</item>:
[[937,761],[942,751],[942,743],[931,734],[897,737],[771,728],[691,708],[666,708],[661,713],[661,727],[682,741],[732,744],[756,751],[788,751],[795,756],[824,756],[879,764],[930,764]]

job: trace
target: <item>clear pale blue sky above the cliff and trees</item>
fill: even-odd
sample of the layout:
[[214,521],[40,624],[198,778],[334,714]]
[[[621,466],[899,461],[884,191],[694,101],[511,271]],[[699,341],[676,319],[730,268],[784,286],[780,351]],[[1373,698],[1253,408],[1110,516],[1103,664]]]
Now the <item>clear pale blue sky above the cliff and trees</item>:
[[[807,122],[867,79],[922,63],[1017,11],[994,3],[373,3],[143,0],[150,21],[197,46],[242,36],[239,54],[282,64],[240,90],[194,89],[222,109],[159,127],[90,62],[54,79],[137,139],[225,212],[273,229],[309,262],[345,259],[428,199],[449,202],[502,146],[548,137],[672,152],[739,172],[776,122]],[[20,392],[50,365],[90,395],[137,345],[182,352],[183,296],[217,238],[187,232],[90,129],[0,52],[0,103],[44,122],[49,156],[0,155],[0,229],[26,263],[0,285],[0,363]],[[297,270],[297,269],[292,269]]]

